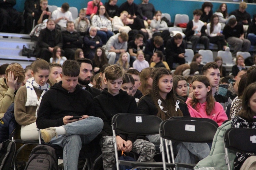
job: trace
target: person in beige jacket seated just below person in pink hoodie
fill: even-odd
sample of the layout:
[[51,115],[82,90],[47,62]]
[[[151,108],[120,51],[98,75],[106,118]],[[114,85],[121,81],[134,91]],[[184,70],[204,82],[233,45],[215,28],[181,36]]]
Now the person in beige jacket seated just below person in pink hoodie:
[[79,11],[79,17],[77,17],[74,21],[75,23],[75,29],[77,32],[80,33],[80,35],[86,35],[87,34],[87,30],[90,27],[90,21],[89,19],[86,17],[86,10],[85,9],[81,9]]

